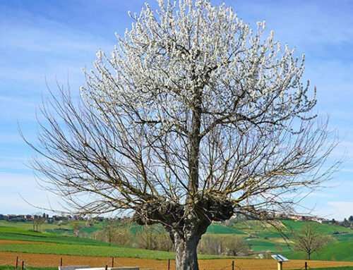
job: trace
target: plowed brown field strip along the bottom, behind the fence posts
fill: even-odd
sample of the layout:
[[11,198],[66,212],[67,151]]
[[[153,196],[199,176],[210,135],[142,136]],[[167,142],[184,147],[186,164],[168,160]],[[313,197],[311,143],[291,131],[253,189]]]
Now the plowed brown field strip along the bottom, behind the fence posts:
[[[25,262],[25,266],[59,266],[61,257],[63,265],[89,265],[90,267],[99,267],[108,264],[111,266],[112,258],[109,257],[85,257],[68,256],[54,254],[32,254],[0,252],[0,264],[15,265],[16,257]],[[299,269],[304,266],[302,260],[291,260],[283,263],[284,269]],[[198,261],[200,269],[205,270],[231,270],[232,259],[201,259]],[[167,270],[167,261],[154,259],[133,259],[133,258],[114,258],[114,266],[140,266],[140,269]],[[234,259],[235,269],[244,270],[275,270],[277,263],[274,259]],[[325,266],[353,266],[353,262],[324,262],[310,261],[308,265],[311,268]],[[174,261],[170,262],[170,269],[174,269]]]

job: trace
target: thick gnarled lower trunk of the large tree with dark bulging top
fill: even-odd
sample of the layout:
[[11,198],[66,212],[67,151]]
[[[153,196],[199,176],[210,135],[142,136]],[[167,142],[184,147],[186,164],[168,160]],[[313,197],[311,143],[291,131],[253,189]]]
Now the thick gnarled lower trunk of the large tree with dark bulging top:
[[194,197],[194,202],[181,204],[158,201],[136,209],[134,221],[140,225],[160,221],[175,247],[176,270],[198,270],[197,246],[212,221],[229,219],[234,203],[227,198]]

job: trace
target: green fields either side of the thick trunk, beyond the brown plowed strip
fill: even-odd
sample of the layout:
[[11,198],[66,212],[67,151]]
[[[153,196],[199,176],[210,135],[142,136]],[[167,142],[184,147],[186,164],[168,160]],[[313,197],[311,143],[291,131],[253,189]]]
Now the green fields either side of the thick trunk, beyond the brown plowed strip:
[[[282,233],[285,233],[289,240],[292,235],[289,229],[299,231],[305,222],[284,220]],[[44,226],[45,225],[45,226]],[[104,222],[95,223],[94,226],[81,229],[81,233],[87,236],[97,230],[102,229]],[[131,225],[130,225],[131,226]],[[60,228],[60,230],[58,230]],[[162,230],[162,226],[156,226]],[[88,255],[101,257],[136,257],[145,259],[174,259],[173,252],[160,252],[151,250],[138,250],[133,247],[124,247],[117,244],[93,240],[90,238],[73,237],[73,231],[70,226],[58,226],[58,223],[43,224],[42,231],[35,233],[31,231],[32,224],[24,222],[8,222],[0,221],[0,239],[4,240],[26,240],[40,243],[28,244],[3,244],[0,245],[0,251],[10,252],[35,252],[43,254],[71,254],[71,255]],[[131,226],[133,235],[142,229],[141,226]],[[342,226],[332,224],[320,224],[319,230],[326,235],[332,235],[337,241],[332,245],[324,247],[321,252],[312,254],[312,259],[318,260],[337,260],[353,262],[353,230]],[[275,228],[263,226],[258,221],[243,221],[234,224],[233,228],[223,226],[219,223],[212,224],[207,233],[213,235],[232,235],[236,234],[244,238],[249,250],[253,252],[272,252],[280,253],[289,259],[305,259],[304,254],[293,252],[289,249],[287,243],[284,243],[281,233]],[[47,244],[46,244],[47,243]],[[52,245],[50,243],[57,243]],[[202,259],[219,258],[219,256],[201,255]],[[0,269],[1,270],[1,269]]]

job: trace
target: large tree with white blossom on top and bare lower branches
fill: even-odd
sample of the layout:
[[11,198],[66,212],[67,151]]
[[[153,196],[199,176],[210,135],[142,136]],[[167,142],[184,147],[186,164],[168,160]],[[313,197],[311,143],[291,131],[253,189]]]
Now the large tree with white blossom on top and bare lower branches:
[[294,211],[299,197],[285,195],[330,178],[336,140],[311,113],[304,56],[273,32],[264,39],[265,22],[253,31],[208,0],[159,4],[131,15],[111,56],[97,52],[78,101],[61,87],[44,100],[28,144],[70,211],[130,209],[140,224],[161,223],[177,269],[198,269],[212,221]]

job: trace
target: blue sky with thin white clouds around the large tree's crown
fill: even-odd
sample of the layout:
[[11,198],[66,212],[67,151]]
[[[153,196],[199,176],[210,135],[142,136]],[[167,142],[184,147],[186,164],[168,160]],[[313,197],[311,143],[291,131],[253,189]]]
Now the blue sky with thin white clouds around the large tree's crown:
[[[25,166],[33,155],[18,135],[35,141],[35,111],[47,85],[84,83],[80,68],[92,68],[98,49],[111,51],[114,32],[131,27],[128,11],[139,12],[138,0],[0,0],[0,214],[25,214],[58,205]],[[156,6],[154,0],[148,0]],[[219,4],[223,1],[213,1]],[[345,163],[328,188],[302,202],[313,214],[329,219],[353,215],[353,1],[225,0],[240,18],[255,27],[266,20],[275,39],[306,54],[304,80],[318,89],[320,114],[330,115],[340,146],[333,158]],[[304,209],[303,209],[304,211]]]

